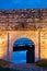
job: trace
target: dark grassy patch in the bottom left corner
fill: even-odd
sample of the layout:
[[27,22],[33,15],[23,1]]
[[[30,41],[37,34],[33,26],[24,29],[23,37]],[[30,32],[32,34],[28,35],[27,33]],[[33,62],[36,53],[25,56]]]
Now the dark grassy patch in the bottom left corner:
[[[12,62],[0,60],[0,71],[20,71],[20,70],[14,70],[14,69],[8,68],[9,64],[11,64],[11,63]],[[5,67],[5,66],[8,66],[8,67]]]

